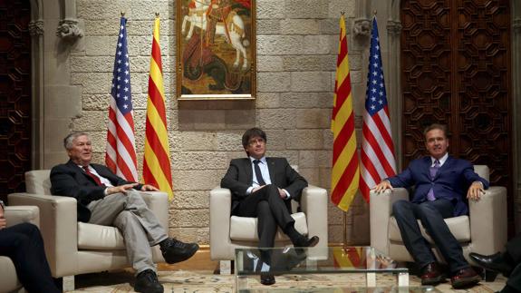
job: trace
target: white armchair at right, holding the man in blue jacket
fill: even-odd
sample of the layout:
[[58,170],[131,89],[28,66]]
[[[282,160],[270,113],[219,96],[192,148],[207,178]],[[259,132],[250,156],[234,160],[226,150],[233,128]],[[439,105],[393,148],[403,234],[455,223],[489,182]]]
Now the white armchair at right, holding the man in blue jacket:
[[[476,165],[474,170],[488,181],[488,167]],[[397,200],[409,200],[409,193],[403,188],[386,190],[381,194],[371,191],[371,247],[379,249],[391,259],[413,261],[401,240],[400,229],[392,216],[392,204]],[[446,219],[449,230],[458,239],[465,259],[470,252],[494,254],[503,250],[507,243],[507,189],[491,186],[480,200],[469,200],[469,215]],[[419,221],[420,223],[420,221]],[[437,259],[445,262],[434,242],[421,227],[421,233],[432,244]]]

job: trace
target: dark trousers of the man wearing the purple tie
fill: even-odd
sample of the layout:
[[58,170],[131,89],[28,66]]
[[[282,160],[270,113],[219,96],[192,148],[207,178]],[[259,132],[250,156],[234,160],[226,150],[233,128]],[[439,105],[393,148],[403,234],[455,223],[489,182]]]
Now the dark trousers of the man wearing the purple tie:
[[417,219],[421,221],[421,225],[427,230],[439,252],[449,263],[450,272],[455,273],[459,269],[469,267],[467,260],[463,257],[463,250],[458,240],[450,233],[449,227],[443,220],[453,217],[453,210],[452,203],[443,199],[424,201],[420,204],[408,200],[398,200],[392,205],[392,212],[400,228],[403,244],[420,268],[436,261],[436,258],[430,250],[427,239],[421,236]]

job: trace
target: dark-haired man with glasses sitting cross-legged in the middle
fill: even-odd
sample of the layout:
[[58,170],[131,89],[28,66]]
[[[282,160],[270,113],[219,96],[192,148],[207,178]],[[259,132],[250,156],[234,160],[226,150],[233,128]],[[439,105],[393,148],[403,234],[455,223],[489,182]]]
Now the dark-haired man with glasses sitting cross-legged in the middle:
[[[313,247],[319,239],[308,239],[294,229],[291,200],[300,201],[307,181],[294,171],[285,158],[266,158],[266,135],[258,128],[247,130],[242,143],[248,158],[230,162],[221,187],[232,192],[232,215],[258,219],[259,248],[273,248],[280,227],[294,247]],[[265,252],[263,255],[263,251]],[[261,249],[261,260],[270,265],[267,250]],[[261,283],[275,283],[273,275],[261,274]]]

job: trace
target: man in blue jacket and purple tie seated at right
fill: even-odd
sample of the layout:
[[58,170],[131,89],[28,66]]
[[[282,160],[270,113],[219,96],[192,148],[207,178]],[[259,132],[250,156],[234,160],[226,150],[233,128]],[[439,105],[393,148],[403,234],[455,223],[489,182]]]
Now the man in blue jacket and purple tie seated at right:
[[406,170],[381,181],[375,190],[415,187],[412,200],[396,201],[392,212],[405,247],[421,269],[422,285],[438,285],[445,281],[446,275],[439,269],[429,242],[421,236],[417,220],[448,262],[452,287],[472,286],[481,278],[468,265],[458,240],[444,219],[467,214],[467,200],[479,200],[488,188],[488,182],[478,176],[469,161],[449,156],[449,139],[444,125],[432,124],[423,133],[429,156],[411,161]]

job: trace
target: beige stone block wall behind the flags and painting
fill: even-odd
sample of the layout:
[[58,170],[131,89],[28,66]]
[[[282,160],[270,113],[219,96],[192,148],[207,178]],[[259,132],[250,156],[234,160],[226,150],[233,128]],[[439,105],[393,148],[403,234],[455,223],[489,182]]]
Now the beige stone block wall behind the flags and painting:
[[[253,126],[267,133],[268,155],[287,157],[311,184],[329,189],[333,138],[329,126],[341,11],[345,11],[350,34],[357,129],[362,126],[368,40],[352,36],[355,0],[256,1],[256,101],[186,103],[175,98],[175,1],[77,0],[76,4],[84,36],[82,45],[77,45],[70,56],[70,80],[82,89],[82,111],[73,119],[72,129],[92,134],[94,161],[102,162],[119,17],[124,11],[129,19],[140,170],[153,19],[156,12],[161,15],[160,45],[174,185],[174,200],[169,207],[171,235],[208,243],[208,191],[219,184],[230,159],[245,155],[241,135]],[[369,243],[368,213],[367,205],[358,197],[347,215],[348,239],[352,243]],[[342,212],[330,205],[328,218],[330,242],[342,242]]]

